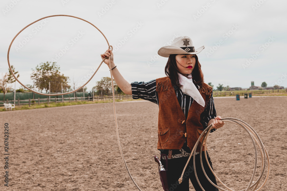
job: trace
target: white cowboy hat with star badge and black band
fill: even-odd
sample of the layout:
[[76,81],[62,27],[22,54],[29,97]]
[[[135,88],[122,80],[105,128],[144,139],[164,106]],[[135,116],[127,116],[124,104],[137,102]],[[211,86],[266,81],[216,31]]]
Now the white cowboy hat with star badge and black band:
[[170,46],[164,46],[158,50],[158,55],[169,57],[170,54],[198,54],[204,46],[194,48],[192,40],[188,36],[175,38]]

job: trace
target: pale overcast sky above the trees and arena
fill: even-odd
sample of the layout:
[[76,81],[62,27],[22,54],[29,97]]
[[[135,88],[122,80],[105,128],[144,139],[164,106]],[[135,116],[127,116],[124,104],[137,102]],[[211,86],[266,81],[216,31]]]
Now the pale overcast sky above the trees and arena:
[[[2,0],[0,4],[0,72],[8,72],[7,50],[26,25],[45,16],[65,14],[96,25],[114,47],[115,63],[130,82],[164,77],[168,58],[157,51],[178,36],[189,36],[205,82],[247,88],[287,86],[287,1],[284,0]],[[13,42],[10,63],[19,80],[40,62],[56,61],[76,86],[84,84],[101,62],[108,44],[89,23],[72,17],[50,17],[26,28]],[[110,76],[103,64],[88,90]],[[13,86],[14,87],[14,84]],[[20,84],[17,82],[16,88]]]

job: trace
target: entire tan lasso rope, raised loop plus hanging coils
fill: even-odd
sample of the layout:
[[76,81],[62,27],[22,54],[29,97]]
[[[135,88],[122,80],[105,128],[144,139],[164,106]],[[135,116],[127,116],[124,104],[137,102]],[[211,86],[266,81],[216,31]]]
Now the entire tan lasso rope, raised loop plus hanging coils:
[[[27,86],[25,86],[24,84],[22,84],[18,78],[15,76],[11,66],[10,66],[10,62],[9,62],[9,52],[10,52],[10,49],[11,49],[11,45],[12,43],[14,42],[15,38],[24,30],[26,29],[27,27],[29,27],[30,25],[42,20],[42,19],[45,19],[45,18],[49,18],[49,17],[57,17],[57,16],[65,16],[65,17],[73,17],[73,18],[77,18],[77,19],[80,19],[80,20],[83,20],[91,25],[93,25],[96,29],[98,29],[98,27],[96,27],[94,24],[90,23],[89,21],[86,21],[85,19],[82,19],[82,18],[79,18],[79,17],[75,17],[75,16],[71,16],[71,15],[51,15],[51,16],[47,16],[47,17],[43,17],[41,19],[38,19],[32,23],[30,23],[29,25],[27,25],[26,27],[24,27],[21,31],[18,32],[18,34],[13,38],[13,40],[11,41],[10,45],[9,45],[9,48],[8,48],[8,53],[7,53],[7,61],[8,61],[8,65],[9,65],[9,70],[11,71],[11,74],[14,76],[14,78],[22,85],[24,86],[26,89],[30,90],[31,92],[34,92],[34,93],[37,93],[37,94],[40,94],[40,95],[46,95],[46,96],[57,96],[57,95],[65,95],[65,94],[70,94],[70,93],[73,93],[81,88],[83,88],[86,84],[88,84],[88,82],[94,77],[94,75],[96,74],[96,72],[98,71],[98,69],[100,68],[100,66],[102,65],[102,63],[104,62],[106,58],[104,58],[102,60],[102,62],[100,63],[100,65],[98,66],[97,70],[94,72],[94,74],[91,76],[91,78],[84,84],[82,85],[81,87],[71,91],[71,92],[66,92],[66,93],[60,93],[60,94],[44,94],[44,93],[40,93],[40,92],[36,92],[30,88],[28,88]],[[104,34],[102,33],[102,31],[100,31],[100,29],[98,29],[98,31],[104,36]],[[106,42],[108,44],[108,48],[110,48],[111,50],[113,50],[113,47],[108,43],[108,40],[107,38],[104,36],[104,38],[106,39]],[[121,149],[121,144],[120,144],[120,140],[119,140],[119,131],[118,131],[118,124],[117,124],[117,115],[116,115],[116,108],[115,108],[115,91],[114,91],[114,83],[113,83],[113,74],[112,74],[112,70],[111,70],[111,62],[110,62],[110,56],[108,57],[108,60],[109,60],[109,68],[110,68],[110,76],[111,76],[111,82],[112,82],[112,92],[113,92],[113,109],[114,109],[114,116],[115,116],[115,124],[116,124],[116,133],[117,133],[117,142],[118,142],[118,146],[119,146],[119,150],[120,150],[120,153],[121,153],[121,157],[124,161],[124,164],[125,164],[125,168],[127,169],[127,172],[129,174],[129,177],[131,178],[131,180],[133,181],[133,183],[135,184],[135,186],[137,187],[138,190],[141,191],[141,189],[139,188],[139,186],[137,186],[137,184],[135,183],[135,180],[133,179],[133,177],[131,176],[131,173],[129,172],[129,169],[127,167],[127,163],[125,162],[125,158],[123,156],[123,152],[122,152],[122,149]],[[229,122],[232,122],[232,123],[235,123],[239,126],[241,126],[243,129],[245,129],[245,131],[248,132],[249,136],[251,137],[251,140],[253,142],[253,145],[254,145],[254,149],[255,149],[255,166],[254,166],[254,170],[253,170],[253,175],[252,175],[252,178],[251,178],[251,181],[249,182],[249,185],[247,186],[247,188],[245,190],[241,190],[241,191],[248,191],[250,188],[253,188],[253,190],[255,190],[258,185],[259,185],[259,182],[261,180],[261,177],[263,176],[263,173],[264,173],[264,170],[265,170],[265,166],[266,166],[266,163],[267,163],[267,176],[265,178],[265,181],[263,182],[263,184],[257,189],[257,190],[260,190],[264,185],[265,183],[267,182],[267,179],[268,179],[268,176],[269,176],[269,171],[270,171],[270,162],[269,162],[269,157],[268,157],[268,154],[267,154],[267,151],[261,141],[261,139],[259,138],[258,134],[255,132],[255,130],[250,126],[248,125],[247,123],[245,123],[244,121],[240,120],[240,119],[235,119],[235,118],[223,118],[222,121],[229,121]],[[212,125],[209,125],[204,131],[203,133],[201,133],[199,139],[197,140],[194,148],[197,148],[197,145],[199,144],[199,141],[201,139],[201,137],[203,137],[203,140],[202,140],[202,143],[201,143],[201,150],[202,150],[202,147],[203,147],[203,143],[207,141],[207,136],[208,136],[208,133],[209,133],[209,130],[211,129]],[[260,153],[261,153],[261,173],[260,173],[260,176],[259,178],[256,180],[256,182],[254,182],[254,184],[252,184],[253,182],[253,179],[255,177],[255,172],[256,172],[256,168],[257,168],[257,149],[256,149],[256,145],[255,145],[255,142],[256,144],[258,145],[258,147],[260,148]],[[196,168],[195,168],[195,152],[196,152],[196,149],[192,149],[191,151],[191,154],[189,156],[189,159],[187,161],[187,164],[185,165],[185,168],[183,170],[183,173],[181,175],[181,178],[179,179],[179,182],[181,183],[182,182],[182,178],[183,178],[183,174],[185,172],[185,169],[189,163],[189,160],[191,159],[191,156],[193,156],[193,167],[194,167],[194,171],[195,171],[195,176],[196,176],[196,179],[197,179],[197,182],[199,184],[199,186],[201,187],[201,189],[204,191],[204,189],[202,188],[199,180],[198,180],[198,177],[197,177],[197,174],[196,174]],[[206,144],[205,144],[205,159],[208,161],[207,159],[207,155],[206,155]],[[213,184],[216,188],[220,189],[220,190],[224,190],[220,187],[218,187],[217,185],[215,185],[209,178],[208,176],[206,175],[205,173],[205,170],[203,168],[203,163],[202,163],[202,152],[200,152],[200,162],[201,162],[201,168],[205,174],[205,176],[207,177],[207,179],[211,182],[211,184]],[[216,179],[226,188],[228,189],[229,191],[234,191],[230,188],[228,188],[225,184],[223,184],[220,179],[216,176],[216,174],[214,173],[214,171],[212,170],[210,164],[208,163],[208,166],[209,168],[211,169],[212,173],[214,174],[214,176],[216,177]],[[256,190],[256,191],[257,191]],[[224,190],[225,191],[225,190]]]

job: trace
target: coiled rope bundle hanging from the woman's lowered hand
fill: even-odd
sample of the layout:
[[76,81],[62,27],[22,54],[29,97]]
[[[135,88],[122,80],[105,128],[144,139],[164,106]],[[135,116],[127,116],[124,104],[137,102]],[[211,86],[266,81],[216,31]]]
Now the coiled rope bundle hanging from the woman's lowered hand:
[[[269,161],[269,156],[268,156],[268,153],[267,153],[267,150],[265,148],[265,146],[263,145],[261,139],[259,138],[259,135],[256,133],[256,131],[250,126],[248,125],[246,122],[240,120],[240,119],[236,119],[236,118],[222,118],[221,121],[228,121],[228,122],[231,122],[231,123],[234,123],[240,127],[242,127],[245,131],[247,131],[247,133],[249,134],[252,142],[253,142],[253,146],[254,146],[254,150],[255,150],[255,164],[254,164],[254,170],[253,170],[253,174],[252,174],[252,177],[251,177],[251,180],[247,186],[246,189],[244,190],[241,190],[241,191],[248,191],[250,189],[253,188],[253,191],[257,191],[257,190],[261,190],[261,188],[263,188],[263,186],[266,184],[267,182],[267,179],[269,177],[269,172],[270,172],[270,161]],[[203,140],[201,142],[201,145],[200,145],[200,150],[202,150],[202,147],[203,147],[203,144],[204,144],[204,154],[205,154],[205,159],[206,161],[208,161],[208,158],[207,158],[207,154],[206,154],[206,150],[207,150],[207,147],[206,147],[206,142],[207,142],[207,137],[208,137],[208,134],[210,132],[210,129],[212,128],[212,124],[210,124],[202,133],[201,135],[199,136],[197,142],[195,143],[192,151],[191,151],[191,154],[189,156],[189,159],[187,160],[187,163],[185,165],[185,168],[183,169],[183,172],[181,174],[181,178],[179,178],[179,182],[181,183],[182,180],[183,180],[183,174],[185,172],[185,169],[187,168],[187,165],[189,163],[189,160],[191,159],[191,156],[193,156],[193,168],[194,168],[194,172],[195,172],[195,177],[196,177],[196,180],[200,186],[200,188],[205,191],[203,189],[203,187],[201,186],[199,180],[198,180],[198,177],[197,177],[197,174],[196,174],[196,167],[195,167],[195,153],[196,153],[196,149],[198,144],[199,144],[199,141],[200,139],[203,137]],[[258,179],[253,183],[253,179],[255,177],[255,173],[256,173],[256,169],[257,169],[257,148],[256,148],[256,145],[259,147],[259,151],[260,151],[260,154],[261,154],[261,170],[260,170],[260,175],[258,177]],[[205,170],[203,168],[203,163],[202,163],[202,152],[200,152],[200,163],[201,163],[201,168],[203,170],[203,173],[205,174],[206,178],[209,180],[209,182],[215,186],[216,188],[218,188],[219,190],[224,190],[224,191],[235,191],[235,190],[232,190],[231,188],[229,188],[228,186],[226,186],[219,178],[218,176],[216,176],[215,172],[212,170],[209,162],[207,162],[211,172],[214,174],[216,180],[218,180],[218,182],[220,182],[220,184],[222,184],[222,186],[224,186],[224,188],[226,188],[227,190],[223,189],[223,188],[220,188],[219,186],[215,185],[207,176],[207,174],[205,173]],[[266,178],[264,180],[264,182],[262,183],[262,185],[258,187],[259,183],[260,183],[260,180],[263,176],[263,173],[265,171],[265,168],[266,168],[266,165],[267,165],[267,174],[266,174]],[[252,184],[253,183],[253,184]]]

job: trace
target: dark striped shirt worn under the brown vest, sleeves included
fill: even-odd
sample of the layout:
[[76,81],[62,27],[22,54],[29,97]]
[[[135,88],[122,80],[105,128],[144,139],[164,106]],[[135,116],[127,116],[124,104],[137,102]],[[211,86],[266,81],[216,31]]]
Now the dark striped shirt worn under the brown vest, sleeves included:
[[[152,103],[156,103],[158,105],[159,100],[158,100],[158,93],[156,92],[156,80],[151,80],[149,82],[132,82],[131,90],[132,90],[133,99],[144,99],[147,101],[151,101]],[[185,118],[187,119],[187,114],[193,102],[193,98],[187,94],[184,94],[179,87],[174,87],[174,91],[175,91],[175,94],[177,95],[177,100],[179,102],[179,105],[181,106],[181,109],[185,115]],[[214,107],[214,100],[213,100],[212,94],[211,94],[210,101],[208,102],[207,107],[203,111],[202,116],[203,118],[202,118],[201,124],[203,125],[203,128],[205,129],[208,126],[208,122],[210,121],[210,119],[214,119],[216,117],[216,110]],[[212,133],[215,130],[216,129],[212,129],[210,130],[210,132]],[[171,157],[174,157],[174,158],[185,157],[191,153],[189,147],[187,146],[187,141],[185,141],[182,149],[179,149],[179,150],[164,149],[160,151],[161,153],[164,153],[166,155],[172,155]],[[168,159],[170,158],[168,157]]]

